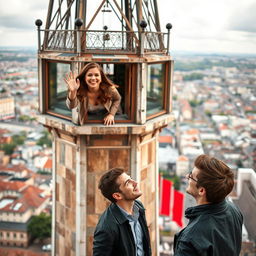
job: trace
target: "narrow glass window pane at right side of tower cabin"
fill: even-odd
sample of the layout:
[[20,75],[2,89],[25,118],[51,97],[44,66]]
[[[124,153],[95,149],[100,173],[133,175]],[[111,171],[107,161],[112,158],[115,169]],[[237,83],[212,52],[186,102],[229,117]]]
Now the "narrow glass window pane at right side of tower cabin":
[[148,66],[147,116],[164,109],[165,64]]

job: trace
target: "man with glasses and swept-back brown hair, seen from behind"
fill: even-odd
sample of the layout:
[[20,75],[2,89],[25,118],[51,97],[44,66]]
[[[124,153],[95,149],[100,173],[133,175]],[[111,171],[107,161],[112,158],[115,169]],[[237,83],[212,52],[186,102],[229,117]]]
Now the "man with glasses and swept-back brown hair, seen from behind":
[[234,174],[222,161],[207,155],[195,160],[187,174],[188,187],[197,206],[186,210],[188,225],[174,238],[175,256],[239,256],[243,216],[226,200]]

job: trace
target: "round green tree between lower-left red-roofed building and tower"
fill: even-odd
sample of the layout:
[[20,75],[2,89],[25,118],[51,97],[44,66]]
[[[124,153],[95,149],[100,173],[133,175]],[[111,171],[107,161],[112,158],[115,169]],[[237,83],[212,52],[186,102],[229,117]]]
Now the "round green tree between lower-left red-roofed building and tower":
[[28,225],[28,233],[31,237],[43,240],[51,237],[51,216],[41,213],[38,216],[33,216]]

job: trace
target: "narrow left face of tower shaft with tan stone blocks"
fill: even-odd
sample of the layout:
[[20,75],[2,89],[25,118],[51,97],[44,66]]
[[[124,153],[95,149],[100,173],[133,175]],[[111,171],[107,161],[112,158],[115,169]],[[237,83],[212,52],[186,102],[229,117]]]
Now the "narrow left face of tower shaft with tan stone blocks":
[[55,255],[73,256],[76,237],[76,147],[56,141]]

